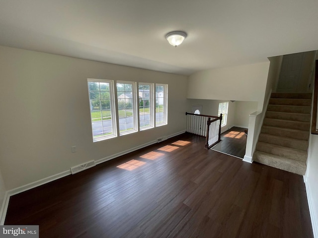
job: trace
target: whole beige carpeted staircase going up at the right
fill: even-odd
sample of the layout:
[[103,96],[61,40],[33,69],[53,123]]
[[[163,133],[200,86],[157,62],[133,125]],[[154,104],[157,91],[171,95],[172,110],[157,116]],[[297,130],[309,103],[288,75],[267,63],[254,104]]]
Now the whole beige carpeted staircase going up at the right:
[[253,160],[305,175],[311,105],[311,93],[272,93]]

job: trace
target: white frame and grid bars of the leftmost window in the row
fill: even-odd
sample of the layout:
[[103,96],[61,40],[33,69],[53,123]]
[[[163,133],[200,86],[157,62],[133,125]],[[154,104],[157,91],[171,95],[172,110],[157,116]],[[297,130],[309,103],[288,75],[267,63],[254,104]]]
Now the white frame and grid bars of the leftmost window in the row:
[[[99,110],[93,110],[92,109],[92,100],[90,99],[90,92],[92,90],[89,90],[89,82],[97,82],[97,83],[108,83],[109,84],[109,100],[110,100],[110,116],[111,116],[111,128],[112,128],[112,133],[111,134],[107,134],[107,135],[100,135],[100,136],[94,136],[94,126],[96,126],[97,121],[93,121],[94,119],[92,118],[92,113],[93,112],[98,112],[100,111],[101,114],[101,127],[98,127],[101,129],[102,133],[104,132],[104,127],[103,126],[103,110],[101,107],[101,102],[100,102],[100,109]],[[99,84],[98,84],[99,85]],[[105,139],[110,139],[110,138],[114,138],[117,137],[117,124],[116,124],[116,113],[115,113],[115,97],[114,97],[114,81],[112,80],[105,80],[105,79],[92,79],[92,78],[88,78],[87,79],[87,89],[88,89],[88,102],[89,102],[89,113],[90,113],[90,120],[91,120],[91,130],[92,130],[92,138],[93,138],[93,142],[97,142],[97,141],[101,141],[101,140],[105,140]],[[97,90],[93,90],[96,91]],[[99,87],[99,95],[100,95],[100,87]],[[99,100],[101,100],[101,97],[99,96]],[[104,110],[106,111],[106,110]]]

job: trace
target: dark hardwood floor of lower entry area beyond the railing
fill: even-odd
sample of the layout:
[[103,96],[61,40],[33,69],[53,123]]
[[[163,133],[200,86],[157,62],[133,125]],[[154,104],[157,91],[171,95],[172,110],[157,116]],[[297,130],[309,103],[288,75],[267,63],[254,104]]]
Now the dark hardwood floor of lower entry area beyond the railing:
[[241,159],[244,158],[246,148],[246,135],[244,128],[232,127],[221,134],[221,141],[212,147],[212,150]]

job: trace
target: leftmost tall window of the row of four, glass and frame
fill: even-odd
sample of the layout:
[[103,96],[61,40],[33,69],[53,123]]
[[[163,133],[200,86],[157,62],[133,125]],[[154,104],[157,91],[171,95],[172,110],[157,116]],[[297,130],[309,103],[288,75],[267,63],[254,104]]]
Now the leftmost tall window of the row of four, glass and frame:
[[87,79],[93,141],[117,136],[113,81]]

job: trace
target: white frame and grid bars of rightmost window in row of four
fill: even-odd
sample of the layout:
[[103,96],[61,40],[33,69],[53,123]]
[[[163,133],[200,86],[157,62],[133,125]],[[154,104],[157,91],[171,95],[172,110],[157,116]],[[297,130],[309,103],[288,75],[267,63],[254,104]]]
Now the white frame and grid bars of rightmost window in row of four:
[[[163,87],[163,95],[161,97],[161,95],[158,94],[157,92],[157,87],[158,86],[162,86]],[[168,84],[161,84],[161,83],[156,83],[156,87],[155,87],[155,125],[156,126],[161,126],[161,125],[166,125],[168,123]],[[159,97],[160,96],[160,97]],[[163,120],[158,121],[157,117],[157,107],[159,105],[157,105],[157,102],[160,103],[162,102],[162,104],[159,105],[163,105]]]

